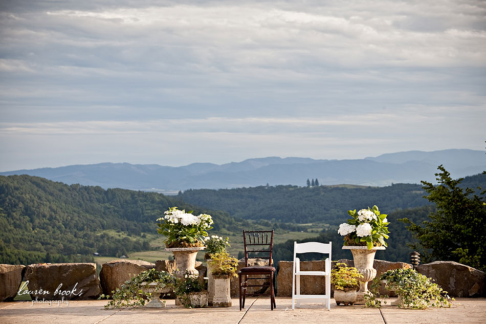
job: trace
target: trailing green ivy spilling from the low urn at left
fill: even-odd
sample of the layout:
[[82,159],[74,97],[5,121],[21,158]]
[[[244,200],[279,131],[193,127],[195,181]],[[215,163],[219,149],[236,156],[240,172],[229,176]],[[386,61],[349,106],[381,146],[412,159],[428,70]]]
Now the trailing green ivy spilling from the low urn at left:
[[[173,289],[177,283],[176,278],[165,271],[157,271],[156,269],[142,271],[130,280],[127,280],[119,289],[112,291],[113,299],[104,308],[144,306],[146,301],[152,298],[152,293],[144,292],[143,287],[147,283],[153,282],[157,283],[157,286],[155,286],[157,289],[166,286]],[[98,299],[105,297],[108,298],[109,296],[102,294]]]

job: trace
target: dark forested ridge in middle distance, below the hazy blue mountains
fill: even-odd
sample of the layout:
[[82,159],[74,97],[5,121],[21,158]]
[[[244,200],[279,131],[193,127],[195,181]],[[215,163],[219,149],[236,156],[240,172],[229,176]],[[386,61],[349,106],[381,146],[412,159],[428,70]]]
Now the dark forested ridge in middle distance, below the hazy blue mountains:
[[[486,182],[486,180],[485,180]],[[243,220],[282,223],[327,223],[339,225],[351,206],[373,201],[382,210],[421,207],[425,191],[417,184],[387,187],[291,185],[235,189],[190,189],[176,196],[185,202],[213,210],[224,210]]]

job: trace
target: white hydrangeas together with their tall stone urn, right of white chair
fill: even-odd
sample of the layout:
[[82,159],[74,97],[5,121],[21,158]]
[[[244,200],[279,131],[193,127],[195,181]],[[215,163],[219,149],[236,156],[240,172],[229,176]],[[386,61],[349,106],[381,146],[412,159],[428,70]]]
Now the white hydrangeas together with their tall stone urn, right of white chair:
[[343,249],[351,250],[355,267],[363,275],[360,278],[360,290],[356,299],[358,305],[366,303],[364,296],[368,293],[368,282],[376,275],[373,269],[374,254],[384,250],[388,239],[388,220],[386,214],[380,213],[376,205],[373,208],[348,210],[347,223],[339,225],[338,233],[344,236]]

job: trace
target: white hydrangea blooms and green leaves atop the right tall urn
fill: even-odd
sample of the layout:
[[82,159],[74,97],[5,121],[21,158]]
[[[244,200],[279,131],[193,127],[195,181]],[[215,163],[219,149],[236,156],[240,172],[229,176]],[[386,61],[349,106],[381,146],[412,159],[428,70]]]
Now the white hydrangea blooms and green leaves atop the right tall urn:
[[[380,213],[376,205],[373,209],[348,210],[352,217],[347,223],[339,225],[338,233],[345,236],[344,245],[366,244],[368,250],[373,246],[388,246],[385,239],[388,239],[387,214]],[[361,244],[360,244],[361,243]]]

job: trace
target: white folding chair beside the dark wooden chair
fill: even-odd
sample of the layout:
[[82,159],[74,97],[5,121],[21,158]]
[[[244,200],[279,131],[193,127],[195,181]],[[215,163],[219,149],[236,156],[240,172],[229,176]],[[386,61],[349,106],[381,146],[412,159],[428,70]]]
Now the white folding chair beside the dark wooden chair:
[[[297,307],[300,307],[301,299],[316,299],[317,301],[326,300],[327,309],[331,309],[331,250],[332,242],[329,243],[319,243],[319,242],[306,242],[297,243],[294,242],[294,266],[292,271],[292,309],[295,307],[297,302]],[[297,257],[297,253],[323,253],[329,254],[329,257],[325,260],[324,271],[301,271],[300,270],[300,259]],[[325,276],[326,282],[326,292],[325,295],[301,295],[300,294],[300,276],[301,275],[312,275],[312,276]]]

